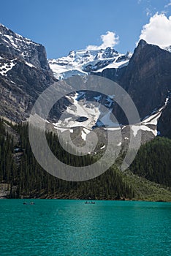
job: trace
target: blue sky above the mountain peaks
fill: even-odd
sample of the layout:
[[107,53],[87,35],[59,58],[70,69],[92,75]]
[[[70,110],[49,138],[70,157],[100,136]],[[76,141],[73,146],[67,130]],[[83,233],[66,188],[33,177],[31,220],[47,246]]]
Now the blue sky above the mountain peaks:
[[[0,0],[0,4],[0,23],[45,45],[48,58],[66,56],[70,50],[88,45],[102,45],[101,36],[107,31],[110,33],[103,37],[104,45],[112,40],[109,45],[115,50],[133,51],[143,34],[142,26],[150,23],[157,29],[159,20],[171,37],[170,0]],[[151,26],[144,29],[141,38],[156,37]],[[160,37],[166,38],[167,34]]]

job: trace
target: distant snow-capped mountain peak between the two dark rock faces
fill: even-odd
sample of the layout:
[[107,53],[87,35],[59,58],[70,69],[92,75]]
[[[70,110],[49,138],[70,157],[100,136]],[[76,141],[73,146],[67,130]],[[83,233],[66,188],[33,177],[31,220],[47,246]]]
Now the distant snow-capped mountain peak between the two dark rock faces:
[[49,65],[58,79],[72,75],[86,75],[91,72],[102,72],[107,68],[121,68],[127,65],[132,53],[121,54],[113,48],[101,50],[72,50],[68,56],[50,59]]

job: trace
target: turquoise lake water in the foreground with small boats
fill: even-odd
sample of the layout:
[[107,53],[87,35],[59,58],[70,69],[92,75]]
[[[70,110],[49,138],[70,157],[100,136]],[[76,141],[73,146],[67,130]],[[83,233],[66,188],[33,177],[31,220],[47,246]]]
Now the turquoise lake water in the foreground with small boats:
[[0,200],[0,255],[171,255],[171,203]]

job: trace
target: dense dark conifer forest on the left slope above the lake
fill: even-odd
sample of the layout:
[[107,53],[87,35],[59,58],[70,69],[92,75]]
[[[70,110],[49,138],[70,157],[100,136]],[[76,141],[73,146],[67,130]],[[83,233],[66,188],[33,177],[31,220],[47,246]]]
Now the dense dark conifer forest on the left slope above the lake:
[[[72,182],[63,181],[51,176],[39,166],[28,143],[28,125],[12,127],[20,135],[18,145],[12,142],[12,137],[5,132],[1,123],[1,168],[0,182],[6,182],[17,187],[11,197],[50,197],[50,198],[82,198],[82,199],[121,199],[134,197],[132,186],[123,181],[118,167],[113,166],[102,176],[90,181]],[[5,148],[4,151],[4,142]],[[53,153],[69,165],[89,165],[94,162],[91,156],[77,157],[65,153],[58,143],[58,138],[52,133],[47,134],[47,141]],[[17,152],[16,152],[17,149]],[[20,152],[20,159],[16,163],[16,154]],[[17,157],[18,159],[18,157]],[[8,165],[7,165],[7,162]]]

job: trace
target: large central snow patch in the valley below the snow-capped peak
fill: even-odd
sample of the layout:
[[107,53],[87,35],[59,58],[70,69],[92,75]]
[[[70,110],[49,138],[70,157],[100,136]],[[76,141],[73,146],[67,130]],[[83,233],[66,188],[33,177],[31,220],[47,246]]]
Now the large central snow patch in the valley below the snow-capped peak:
[[67,95],[67,99],[71,102],[64,113],[61,115],[60,120],[53,123],[55,127],[73,128],[84,127],[86,134],[94,127],[118,127],[118,124],[113,121],[113,100],[106,97],[105,108],[100,99],[102,95],[94,97],[94,101],[86,99],[86,92],[79,91],[75,95]]

